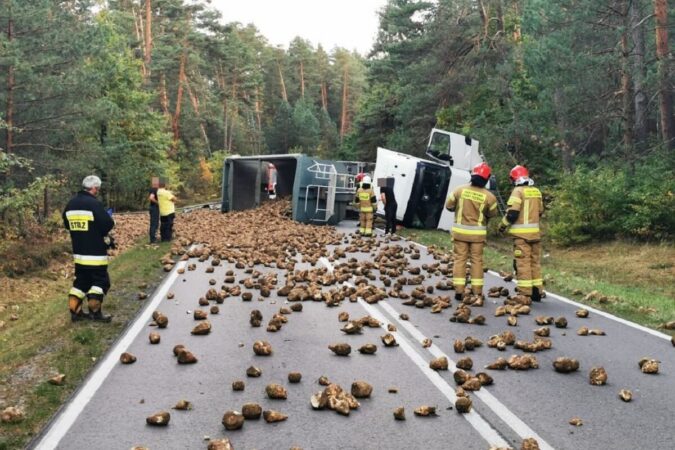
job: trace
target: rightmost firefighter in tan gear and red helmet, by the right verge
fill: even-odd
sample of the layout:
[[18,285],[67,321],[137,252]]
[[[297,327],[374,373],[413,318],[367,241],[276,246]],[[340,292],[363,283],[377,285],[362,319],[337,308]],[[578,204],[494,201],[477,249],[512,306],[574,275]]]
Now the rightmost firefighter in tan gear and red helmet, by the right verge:
[[513,265],[518,278],[518,291],[538,302],[544,291],[539,229],[544,203],[541,191],[534,187],[534,181],[525,167],[515,166],[509,178],[515,188],[507,202],[506,215],[499,225],[499,232],[508,230],[513,237]]

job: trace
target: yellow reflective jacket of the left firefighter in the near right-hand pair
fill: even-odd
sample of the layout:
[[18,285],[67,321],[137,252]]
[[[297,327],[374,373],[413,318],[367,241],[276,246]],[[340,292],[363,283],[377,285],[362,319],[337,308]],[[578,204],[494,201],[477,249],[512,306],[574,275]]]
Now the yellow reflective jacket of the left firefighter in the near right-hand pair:
[[485,188],[467,184],[455,189],[445,207],[455,212],[452,238],[463,242],[485,242],[487,219],[497,215],[497,199]]

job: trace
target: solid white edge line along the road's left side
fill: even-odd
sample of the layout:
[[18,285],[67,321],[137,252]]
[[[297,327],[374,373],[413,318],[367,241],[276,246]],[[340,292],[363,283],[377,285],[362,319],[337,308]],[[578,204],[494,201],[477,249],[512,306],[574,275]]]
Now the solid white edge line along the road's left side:
[[75,423],[75,420],[82,413],[85,406],[87,406],[110,372],[118,364],[120,354],[129,348],[129,345],[131,345],[136,336],[138,336],[138,334],[147,326],[147,322],[152,317],[152,313],[155,311],[155,308],[157,308],[157,305],[159,305],[159,303],[169,291],[169,288],[171,288],[174,281],[176,281],[176,278],[178,277],[178,269],[185,267],[186,264],[186,261],[181,261],[176,264],[173,271],[162,282],[160,289],[152,297],[150,303],[145,307],[145,310],[143,310],[143,312],[136,318],[136,321],[117,342],[115,347],[113,347],[108,352],[108,356],[98,365],[94,373],[92,373],[86,384],[82,386],[82,389],[80,389],[75,398],[51,424],[49,431],[42,437],[40,442],[38,442],[38,444],[35,446],[35,449],[52,450],[59,445],[59,442],[61,442],[61,439],[63,439],[70,427],[73,426],[73,423]]

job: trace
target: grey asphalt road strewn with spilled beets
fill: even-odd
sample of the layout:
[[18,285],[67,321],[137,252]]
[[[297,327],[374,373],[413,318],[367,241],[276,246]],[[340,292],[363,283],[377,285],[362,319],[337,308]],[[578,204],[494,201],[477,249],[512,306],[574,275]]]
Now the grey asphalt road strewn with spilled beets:
[[[344,226],[345,231],[352,229],[349,223]],[[419,260],[411,261],[412,266],[433,262],[425,249],[420,254]],[[365,259],[371,255],[350,253],[347,257]],[[285,298],[276,297],[272,291],[264,301],[259,301],[258,295],[254,295],[251,302],[227,298],[220,305],[220,314],[209,315],[212,332],[207,336],[192,336],[190,330],[197,324],[192,311],[200,308],[198,298],[211,287],[208,280],[217,280],[218,287],[227,270],[235,270],[237,280],[248,277],[242,270],[225,263],[209,274],[205,272],[208,265],[208,262],[198,263],[196,270],[183,275],[172,272],[109,357],[99,363],[87,383],[33,443],[34,448],[199,449],[206,448],[208,438],[225,436],[236,449],[261,450],[520,448],[526,437],[536,437],[541,448],[673,448],[675,349],[658,333],[648,333],[594,311],[589,318],[577,318],[574,312],[578,306],[551,296],[535,304],[529,316],[520,316],[516,327],[507,326],[505,317],[494,317],[494,299],[486,299],[484,307],[474,308],[475,314],[486,316],[484,326],[449,322],[454,308],[431,314],[429,308],[405,306],[393,298],[375,305],[344,301],[334,308],[306,301],[302,312],[292,313],[280,331],[269,333],[265,330],[267,320],[280,307],[288,306]],[[326,259],[318,265],[332,266]],[[276,269],[260,270],[269,273]],[[431,277],[425,285],[435,285],[440,279],[442,277]],[[279,271],[279,287],[282,285],[283,276]],[[513,289],[513,283],[486,274],[486,292],[493,285]],[[412,287],[404,290],[409,292]],[[167,292],[173,292],[175,298],[166,299]],[[435,295],[453,293],[436,292]],[[496,301],[501,304],[502,299]],[[150,315],[155,309],[169,317],[167,328],[150,326]],[[208,310],[208,307],[202,309]],[[263,314],[260,328],[249,325],[253,309]],[[386,325],[378,329],[364,328],[360,335],[345,335],[339,330],[344,324],[337,319],[341,311],[347,311],[351,318],[370,314],[385,324],[394,324],[400,345],[393,348],[382,345],[380,336],[386,333]],[[408,314],[409,320],[400,320],[400,313]],[[434,372],[428,368],[428,361],[441,355],[447,355],[451,361],[470,356],[473,371],[483,370],[498,356],[508,358],[521,352],[511,347],[499,352],[483,346],[459,355],[454,353],[453,341],[474,336],[486,342],[491,335],[506,329],[513,331],[518,339],[531,340],[532,330],[538,327],[534,322],[537,315],[564,316],[569,321],[566,329],[551,326],[553,348],[536,353],[539,369],[488,371],[495,379],[494,385],[471,393],[472,413],[462,415],[449,409],[456,388],[453,364],[451,362],[450,371]],[[577,336],[580,326],[600,328],[607,335]],[[152,331],[160,333],[160,344],[149,343],[148,334]],[[423,348],[420,343],[425,337],[433,340],[430,348]],[[256,340],[269,341],[273,355],[254,355],[252,344]],[[328,345],[336,342],[349,343],[351,355],[339,357],[328,350]],[[358,353],[356,349],[365,343],[376,344],[377,353],[372,356]],[[186,345],[199,362],[178,365],[172,353],[177,344]],[[120,364],[118,358],[122,351],[134,354],[137,362]],[[556,373],[552,361],[558,356],[578,359],[579,371]],[[661,361],[658,375],[641,373],[638,361],[643,356]],[[246,368],[251,365],[262,369],[261,377],[246,377]],[[607,385],[589,383],[588,373],[595,366],[607,370]],[[299,384],[288,383],[287,375],[291,371],[302,373]],[[322,375],[347,390],[353,381],[365,380],[373,385],[373,395],[361,400],[361,407],[348,417],[330,410],[314,411],[310,397],[323,388],[317,383]],[[246,383],[243,392],[232,390],[235,380]],[[265,386],[268,383],[284,385],[288,399],[267,399]],[[389,393],[390,387],[397,388],[398,392]],[[630,403],[618,398],[619,390],[624,388],[633,392]],[[181,399],[191,401],[194,408],[191,411],[171,409]],[[288,420],[276,424],[262,419],[247,421],[241,430],[226,431],[221,425],[223,413],[239,410],[247,402],[283,412],[289,416]],[[438,415],[415,417],[413,410],[421,405],[437,406]],[[399,406],[405,407],[406,421],[395,421],[392,416]],[[167,427],[146,425],[147,416],[162,410],[171,413]],[[583,420],[583,426],[568,424],[574,416]]]

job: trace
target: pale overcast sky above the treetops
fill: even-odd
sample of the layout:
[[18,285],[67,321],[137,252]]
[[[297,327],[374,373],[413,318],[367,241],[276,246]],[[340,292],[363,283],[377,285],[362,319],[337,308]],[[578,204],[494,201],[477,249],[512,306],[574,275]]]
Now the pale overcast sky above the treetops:
[[386,0],[212,0],[225,22],[253,23],[272,45],[296,36],[331,50],[339,46],[365,55],[372,47]]

